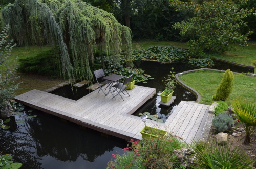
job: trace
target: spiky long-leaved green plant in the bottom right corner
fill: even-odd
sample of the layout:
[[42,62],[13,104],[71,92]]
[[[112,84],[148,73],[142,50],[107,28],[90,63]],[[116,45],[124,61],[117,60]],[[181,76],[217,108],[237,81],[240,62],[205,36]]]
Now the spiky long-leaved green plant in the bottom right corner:
[[195,168],[246,168],[255,161],[240,147],[231,150],[231,145],[217,146],[214,141],[195,143]]

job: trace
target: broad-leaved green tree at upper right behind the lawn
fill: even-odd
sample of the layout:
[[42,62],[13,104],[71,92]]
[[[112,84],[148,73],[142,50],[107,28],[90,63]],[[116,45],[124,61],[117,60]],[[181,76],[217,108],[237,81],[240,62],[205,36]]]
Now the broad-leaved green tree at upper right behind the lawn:
[[194,14],[188,21],[184,20],[173,25],[173,28],[180,30],[182,36],[189,36],[191,55],[203,56],[209,51],[226,51],[232,49],[230,45],[232,43],[239,43],[244,47],[247,45],[248,36],[253,33],[253,31],[245,34],[240,32],[241,28],[247,26],[243,19],[250,16],[253,9],[240,10],[233,1],[203,1],[202,4],[179,0],[170,2],[177,11],[188,10]]

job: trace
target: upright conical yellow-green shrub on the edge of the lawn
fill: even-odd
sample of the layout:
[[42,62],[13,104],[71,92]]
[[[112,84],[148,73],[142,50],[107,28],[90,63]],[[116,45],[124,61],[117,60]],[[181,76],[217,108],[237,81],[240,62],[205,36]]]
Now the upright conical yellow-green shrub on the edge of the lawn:
[[227,69],[225,73],[223,73],[223,77],[219,87],[216,90],[215,99],[220,101],[225,101],[230,93],[232,92],[234,85],[234,74],[230,69]]

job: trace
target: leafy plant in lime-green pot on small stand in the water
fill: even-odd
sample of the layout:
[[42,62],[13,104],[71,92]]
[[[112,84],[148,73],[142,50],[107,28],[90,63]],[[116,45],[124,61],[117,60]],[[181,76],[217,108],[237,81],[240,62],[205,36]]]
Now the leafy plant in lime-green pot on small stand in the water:
[[[174,68],[172,68],[173,70]],[[176,79],[174,71],[170,71],[170,74],[162,80],[165,84],[165,90],[160,94],[161,102],[167,103],[173,96],[174,88],[176,87]]]

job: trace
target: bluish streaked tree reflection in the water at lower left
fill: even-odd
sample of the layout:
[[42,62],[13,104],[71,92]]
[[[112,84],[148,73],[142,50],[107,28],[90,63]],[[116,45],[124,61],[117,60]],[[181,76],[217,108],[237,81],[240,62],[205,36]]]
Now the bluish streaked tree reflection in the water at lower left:
[[23,164],[22,168],[41,168],[35,154],[35,144],[29,134],[24,131],[24,124],[17,125],[15,118],[11,117],[8,123],[11,127],[0,130],[0,152],[11,154],[15,162]]

